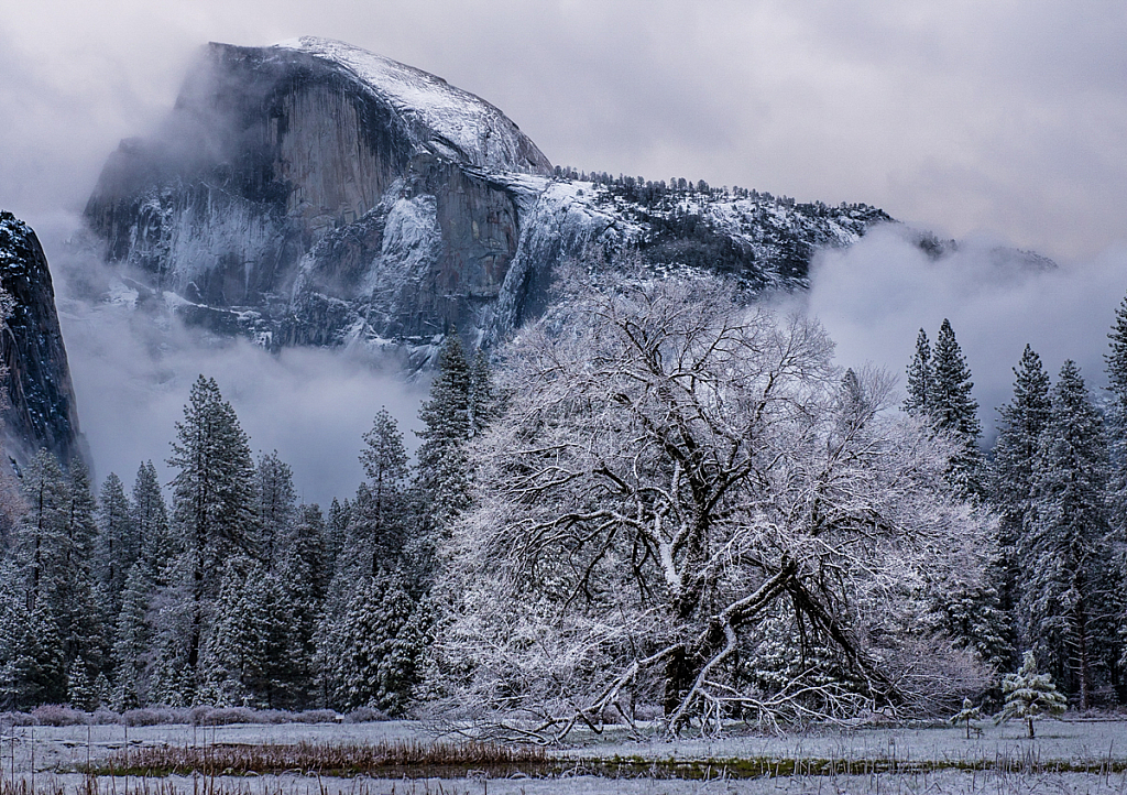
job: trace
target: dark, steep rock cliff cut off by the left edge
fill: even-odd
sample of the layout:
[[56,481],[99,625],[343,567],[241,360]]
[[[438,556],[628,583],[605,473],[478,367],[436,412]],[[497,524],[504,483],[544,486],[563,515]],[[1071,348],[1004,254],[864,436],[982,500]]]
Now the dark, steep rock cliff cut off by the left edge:
[[0,410],[5,450],[25,462],[46,448],[69,465],[82,454],[82,438],[51,273],[35,232],[3,211],[0,284],[12,299],[11,316],[0,328],[0,356],[8,369]]

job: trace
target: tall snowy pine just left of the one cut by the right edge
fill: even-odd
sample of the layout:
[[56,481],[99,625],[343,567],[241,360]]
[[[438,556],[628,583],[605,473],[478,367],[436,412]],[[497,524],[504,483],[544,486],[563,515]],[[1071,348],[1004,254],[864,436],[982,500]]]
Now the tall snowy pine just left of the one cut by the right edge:
[[1030,574],[1021,607],[1039,656],[1088,709],[1094,669],[1109,641],[1100,626],[1108,599],[1107,443],[1074,362],[1064,363],[1050,398],[1033,519],[1019,549]]

